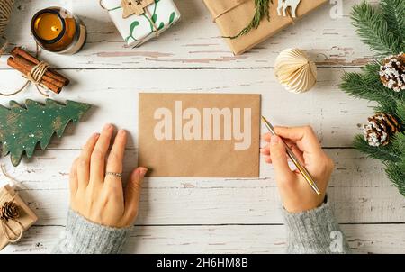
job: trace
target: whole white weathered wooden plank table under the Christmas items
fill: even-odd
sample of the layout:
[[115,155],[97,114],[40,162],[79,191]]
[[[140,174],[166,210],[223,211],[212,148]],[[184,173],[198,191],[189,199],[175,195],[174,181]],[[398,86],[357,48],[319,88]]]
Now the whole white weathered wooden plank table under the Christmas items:
[[[138,49],[124,48],[114,25],[96,0],[16,1],[9,41],[34,51],[31,16],[49,5],[71,5],[88,27],[85,49],[73,57],[41,53],[73,81],[59,101],[94,104],[85,120],[69,126],[49,150],[37,150],[13,168],[20,194],[40,220],[18,245],[5,253],[44,253],[58,240],[66,222],[68,172],[85,139],[105,122],[130,131],[125,173],[137,164],[139,92],[258,93],[263,113],[275,123],[311,124],[322,146],[336,161],[329,187],[331,203],[356,252],[405,252],[405,198],[392,186],[378,161],[351,148],[359,123],[372,113],[362,100],[338,89],[344,71],[354,71],[372,56],[359,41],[348,14],[356,1],[345,1],[344,16],[333,20],[326,5],[293,27],[235,57],[220,38],[201,0],[177,0],[181,23]],[[286,48],[307,50],[319,65],[319,84],[293,95],[274,77],[277,54]],[[2,58],[0,88],[15,89],[23,79]],[[18,102],[43,96],[31,87],[13,97]],[[0,98],[8,104],[9,98]],[[264,132],[264,130],[263,130]],[[150,150],[153,152],[153,150]],[[2,177],[2,182],[6,181]],[[133,253],[278,253],[285,229],[279,212],[273,168],[263,159],[259,179],[148,178],[140,213],[125,252]]]

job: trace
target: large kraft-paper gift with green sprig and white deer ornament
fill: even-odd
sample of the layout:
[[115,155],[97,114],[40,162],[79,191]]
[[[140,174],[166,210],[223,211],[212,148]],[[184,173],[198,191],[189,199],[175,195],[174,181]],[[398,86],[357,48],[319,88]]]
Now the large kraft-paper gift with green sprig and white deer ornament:
[[262,18],[257,29],[235,37],[251,21],[256,11],[255,0],[203,0],[211,12],[212,18],[220,28],[220,32],[228,41],[234,54],[253,48],[258,43],[280,32],[288,25],[294,23],[297,18],[310,13],[328,0],[273,0],[270,1],[269,15]]

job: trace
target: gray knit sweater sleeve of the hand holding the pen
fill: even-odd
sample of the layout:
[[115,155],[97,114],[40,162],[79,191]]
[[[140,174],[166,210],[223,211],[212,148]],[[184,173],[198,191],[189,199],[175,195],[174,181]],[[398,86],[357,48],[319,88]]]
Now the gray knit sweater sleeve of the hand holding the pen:
[[303,213],[284,210],[287,227],[287,253],[350,253],[345,235],[328,203]]

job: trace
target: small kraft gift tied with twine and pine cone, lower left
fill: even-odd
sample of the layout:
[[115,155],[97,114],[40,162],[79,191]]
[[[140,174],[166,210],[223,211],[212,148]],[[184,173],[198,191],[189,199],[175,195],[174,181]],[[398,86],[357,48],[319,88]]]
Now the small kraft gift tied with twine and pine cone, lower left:
[[37,220],[35,213],[11,186],[0,189],[0,250],[20,240],[23,232]]

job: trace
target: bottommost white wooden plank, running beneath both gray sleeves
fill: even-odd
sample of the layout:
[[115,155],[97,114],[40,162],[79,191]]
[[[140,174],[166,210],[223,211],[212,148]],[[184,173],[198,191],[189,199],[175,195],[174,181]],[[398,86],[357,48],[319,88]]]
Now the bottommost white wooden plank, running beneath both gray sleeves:
[[[4,253],[47,253],[63,226],[36,226]],[[405,225],[342,225],[356,253],[405,253]],[[283,225],[136,226],[124,253],[284,253]]]

